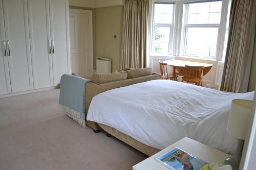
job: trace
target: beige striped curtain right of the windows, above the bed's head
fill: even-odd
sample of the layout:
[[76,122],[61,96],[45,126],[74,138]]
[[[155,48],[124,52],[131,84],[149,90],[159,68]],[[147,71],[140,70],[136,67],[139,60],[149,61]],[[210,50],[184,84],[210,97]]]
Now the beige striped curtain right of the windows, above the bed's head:
[[238,92],[248,63],[255,32],[255,0],[232,0],[227,52],[221,90]]

